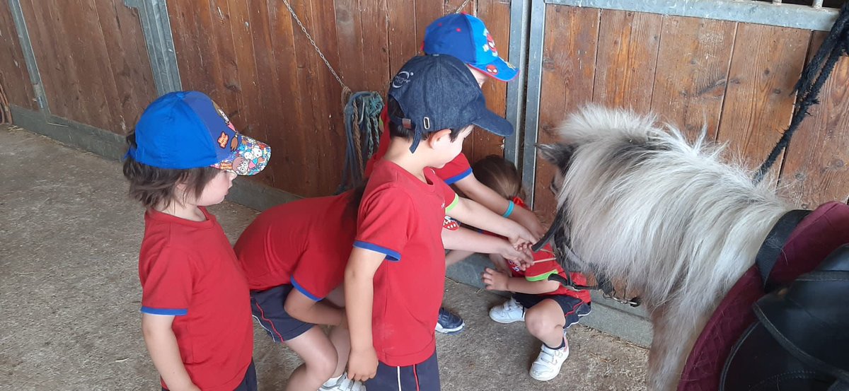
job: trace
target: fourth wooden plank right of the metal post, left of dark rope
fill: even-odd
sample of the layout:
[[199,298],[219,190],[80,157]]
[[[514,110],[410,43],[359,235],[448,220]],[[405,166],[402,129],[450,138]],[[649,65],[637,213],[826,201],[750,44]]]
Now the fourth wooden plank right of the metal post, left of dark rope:
[[[740,24],[718,140],[753,168],[790,125],[810,31]],[[776,162],[776,167],[781,164]]]

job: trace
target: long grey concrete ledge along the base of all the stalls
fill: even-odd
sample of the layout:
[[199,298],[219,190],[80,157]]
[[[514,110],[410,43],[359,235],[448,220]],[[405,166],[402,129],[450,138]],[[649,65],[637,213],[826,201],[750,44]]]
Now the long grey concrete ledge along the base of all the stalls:
[[[124,137],[110,131],[14,105],[11,111],[14,125],[53,138],[70,147],[112,160],[122,159],[127,152]],[[234,182],[227,197],[228,201],[256,210],[265,210],[299,198],[295,194],[241,177]],[[454,281],[483,288],[481,273],[488,265],[491,263],[485,256],[475,254],[464,262],[449,267],[447,276]],[[642,309],[618,304],[596,293],[593,293],[593,313],[583,318],[582,324],[624,338],[633,344],[649,346],[651,343],[651,325],[645,319]]]

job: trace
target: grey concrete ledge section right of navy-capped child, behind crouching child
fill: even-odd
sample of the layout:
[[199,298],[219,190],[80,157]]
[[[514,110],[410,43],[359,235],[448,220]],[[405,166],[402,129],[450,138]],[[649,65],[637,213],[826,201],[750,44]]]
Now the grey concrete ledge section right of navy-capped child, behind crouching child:
[[[463,262],[449,266],[447,277],[456,282],[483,289],[481,273],[483,273],[485,267],[492,267],[492,263],[486,256],[475,254]],[[499,294],[507,296],[506,293]],[[651,323],[643,308],[633,308],[630,305],[604,299],[599,292],[593,291],[592,294],[593,312],[582,318],[582,325],[607,332],[633,344],[649,347],[651,344]]]

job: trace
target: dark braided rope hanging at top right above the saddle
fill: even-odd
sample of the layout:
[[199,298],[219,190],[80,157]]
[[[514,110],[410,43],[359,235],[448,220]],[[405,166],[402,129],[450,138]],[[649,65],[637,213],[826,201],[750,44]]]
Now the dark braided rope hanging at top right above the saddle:
[[849,54],[849,3],[843,4],[841,13],[835,20],[835,25],[831,26],[831,31],[829,31],[829,36],[825,38],[823,46],[819,47],[817,54],[802,70],[796,87],[793,87],[793,92],[799,92],[799,95],[796,98],[796,108],[790,120],[790,127],[784,131],[779,142],[775,144],[761,168],[757,170],[754,178],[755,183],[762,181],[763,176],[775,164],[779,154],[790,144],[790,138],[801,125],[801,121],[807,115],[810,115],[808,109],[814,104],[819,104],[817,99],[819,91],[823,88],[831,72],[835,70],[837,61],[846,54]]

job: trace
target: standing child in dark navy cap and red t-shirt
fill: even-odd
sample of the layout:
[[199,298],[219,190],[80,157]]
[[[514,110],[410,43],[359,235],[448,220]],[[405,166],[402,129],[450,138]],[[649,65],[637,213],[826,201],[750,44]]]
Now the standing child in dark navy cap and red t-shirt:
[[434,332],[445,283],[444,216],[498,232],[519,247],[533,238],[514,221],[458,198],[430,168],[454,159],[472,126],[499,136],[513,131],[486,109],[462,61],[410,59],[391,81],[388,115],[391,141],[368,179],[346,267],[348,374],[374,377],[366,383],[370,391],[438,390]]

